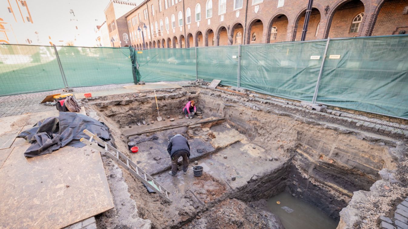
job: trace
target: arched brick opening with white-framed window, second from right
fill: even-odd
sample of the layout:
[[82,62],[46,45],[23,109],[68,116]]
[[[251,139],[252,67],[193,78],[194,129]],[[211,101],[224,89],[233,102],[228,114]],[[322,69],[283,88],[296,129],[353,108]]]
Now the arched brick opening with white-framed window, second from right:
[[333,11],[328,37],[356,37],[361,32],[364,17],[364,4],[360,0],[351,0],[341,4]]

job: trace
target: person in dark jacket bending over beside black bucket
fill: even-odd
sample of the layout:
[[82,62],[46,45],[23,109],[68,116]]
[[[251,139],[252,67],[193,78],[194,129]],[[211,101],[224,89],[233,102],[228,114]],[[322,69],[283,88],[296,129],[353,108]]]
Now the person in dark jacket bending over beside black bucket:
[[190,158],[190,145],[183,135],[176,134],[170,139],[169,146],[167,146],[167,152],[169,152],[171,158],[171,171],[170,175],[177,175],[177,161],[179,157],[183,157],[183,172],[187,173],[188,170],[188,158]]

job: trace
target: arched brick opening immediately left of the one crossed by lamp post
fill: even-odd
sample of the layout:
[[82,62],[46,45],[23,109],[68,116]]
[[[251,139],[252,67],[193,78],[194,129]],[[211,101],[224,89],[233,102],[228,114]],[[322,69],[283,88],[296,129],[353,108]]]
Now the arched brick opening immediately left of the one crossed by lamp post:
[[276,15],[271,20],[268,27],[268,35],[266,35],[266,43],[275,43],[286,41],[288,33],[288,17],[284,14]]

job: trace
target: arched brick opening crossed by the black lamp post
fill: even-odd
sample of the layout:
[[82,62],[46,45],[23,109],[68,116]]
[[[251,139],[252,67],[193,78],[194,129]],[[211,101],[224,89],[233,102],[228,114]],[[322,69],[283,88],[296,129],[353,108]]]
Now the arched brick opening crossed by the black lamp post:
[[[300,41],[302,39],[302,30],[303,24],[305,21],[306,9],[302,11],[297,17],[295,22],[294,34],[292,40]],[[309,23],[306,32],[306,39],[305,40],[314,40],[317,39],[318,31],[320,27],[320,11],[316,8],[312,9],[309,17]]]

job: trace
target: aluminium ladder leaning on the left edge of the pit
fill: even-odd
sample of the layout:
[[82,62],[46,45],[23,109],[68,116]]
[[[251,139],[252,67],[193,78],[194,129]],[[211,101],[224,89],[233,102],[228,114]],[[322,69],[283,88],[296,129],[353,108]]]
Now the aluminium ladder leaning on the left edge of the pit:
[[[90,138],[89,140],[85,138],[81,138],[81,142],[91,146],[95,150],[98,150],[102,155],[106,155],[110,157],[113,161],[116,161],[119,165],[126,168],[134,177],[136,177],[139,181],[144,183],[147,187],[155,190],[160,196],[162,196],[167,202],[171,203],[171,199],[169,198],[170,192],[167,191],[160,183],[155,181],[153,177],[149,174],[144,172],[141,168],[139,168],[133,161],[126,157],[123,153],[121,153],[115,147],[107,144],[104,140],[100,139],[98,136],[94,135],[88,130],[84,130],[84,133],[88,135]],[[95,141],[95,142],[92,142]],[[104,146],[105,148],[102,148]],[[109,152],[109,150],[113,151],[113,153]],[[125,162],[123,162],[124,160]]]

